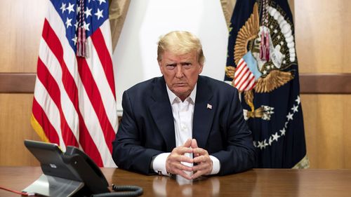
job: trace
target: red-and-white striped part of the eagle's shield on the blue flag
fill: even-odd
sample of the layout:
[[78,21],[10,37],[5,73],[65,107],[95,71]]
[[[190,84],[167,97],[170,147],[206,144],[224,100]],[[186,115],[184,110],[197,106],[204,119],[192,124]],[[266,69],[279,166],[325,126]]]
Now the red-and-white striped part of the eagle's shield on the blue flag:
[[250,71],[244,58],[238,62],[237,71],[234,74],[234,87],[239,91],[251,90],[255,87],[255,76]]

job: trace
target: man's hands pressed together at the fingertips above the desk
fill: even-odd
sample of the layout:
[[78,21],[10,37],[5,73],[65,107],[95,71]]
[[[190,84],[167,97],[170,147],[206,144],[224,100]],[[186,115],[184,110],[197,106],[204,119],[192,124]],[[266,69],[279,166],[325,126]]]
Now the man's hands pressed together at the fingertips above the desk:
[[[193,158],[185,156],[192,154]],[[192,166],[183,164],[192,163]],[[210,175],[212,172],[213,163],[208,152],[197,146],[195,139],[188,139],[183,146],[176,147],[169,154],[166,160],[166,170],[173,175],[180,175],[185,179],[196,179],[201,175]],[[193,172],[192,175],[186,172]]]

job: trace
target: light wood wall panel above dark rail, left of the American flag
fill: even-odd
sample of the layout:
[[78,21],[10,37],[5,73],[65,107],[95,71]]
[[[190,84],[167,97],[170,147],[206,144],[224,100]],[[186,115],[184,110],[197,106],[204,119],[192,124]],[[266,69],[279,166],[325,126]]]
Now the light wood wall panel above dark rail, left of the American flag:
[[46,0],[0,1],[0,72],[37,72]]

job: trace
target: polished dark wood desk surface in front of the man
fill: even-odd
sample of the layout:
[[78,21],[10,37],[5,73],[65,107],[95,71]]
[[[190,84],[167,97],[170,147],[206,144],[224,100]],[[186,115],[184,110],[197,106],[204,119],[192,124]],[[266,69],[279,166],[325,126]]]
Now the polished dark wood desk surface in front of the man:
[[[102,172],[110,184],[143,187],[143,196],[351,196],[351,170],[253,169],[185,184],[115,168]],[[20,191],[41,174],[39,167],[0,167],[0,186]],[[20,195],[0,190],[0,196]]]

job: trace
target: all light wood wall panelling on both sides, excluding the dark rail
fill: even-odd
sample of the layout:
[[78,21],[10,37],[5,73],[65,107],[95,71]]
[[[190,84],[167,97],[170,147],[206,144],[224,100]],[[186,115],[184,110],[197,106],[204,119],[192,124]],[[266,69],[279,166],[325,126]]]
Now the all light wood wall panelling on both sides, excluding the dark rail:
[[[289,0],[300,74],[351,73],[351,1]],[[46,0],[0,2],[0,73],[36,72]],[[0,165],[38,165],[23,140],[32,93],[0,93]],[[351,168],[351,95],[301,95],[311,168]]]

